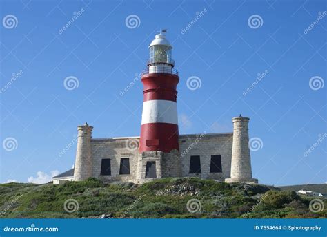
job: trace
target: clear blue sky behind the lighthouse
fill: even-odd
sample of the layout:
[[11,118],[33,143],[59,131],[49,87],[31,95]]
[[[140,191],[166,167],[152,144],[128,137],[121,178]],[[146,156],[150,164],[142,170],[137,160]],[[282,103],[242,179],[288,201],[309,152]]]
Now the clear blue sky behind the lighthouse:
[[[241,113],[259,141],[255,178],[325,183],[326,10],[326,1],[0,1],[0,182],[70,169],[76,144],[63,150],[86,121],[93,138],[139,135],[135,74],[167,28],[181,134],[230,132]],[[201,87],[190,90],[190,77]]]

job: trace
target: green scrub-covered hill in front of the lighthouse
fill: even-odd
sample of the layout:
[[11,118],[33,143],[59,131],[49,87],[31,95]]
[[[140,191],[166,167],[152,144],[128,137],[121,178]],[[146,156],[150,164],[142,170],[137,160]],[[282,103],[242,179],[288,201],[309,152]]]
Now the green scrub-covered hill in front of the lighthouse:
[[60,185],[0,184],[0,217],[326,218],[326,209],[308,209],[312,199],[260,184],[199,178],[165,178],[139,186],[90,178]]

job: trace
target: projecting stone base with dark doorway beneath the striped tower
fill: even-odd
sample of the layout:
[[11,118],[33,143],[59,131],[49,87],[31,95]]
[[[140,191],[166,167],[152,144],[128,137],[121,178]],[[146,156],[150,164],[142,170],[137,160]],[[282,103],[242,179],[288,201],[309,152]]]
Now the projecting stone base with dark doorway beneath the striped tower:
[[149,182],[156,178],[181,177],[179,151],[143,151],[137,161],[138,183]]

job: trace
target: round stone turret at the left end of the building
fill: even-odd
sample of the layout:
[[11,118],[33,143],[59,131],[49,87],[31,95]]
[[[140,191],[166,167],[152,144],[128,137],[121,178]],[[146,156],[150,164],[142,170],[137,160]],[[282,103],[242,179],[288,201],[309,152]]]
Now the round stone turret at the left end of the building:
[[75,158],[74,180],[86,180],[92,176],[91,138],[92,126],[87,123],[78,126],[77,151]]

